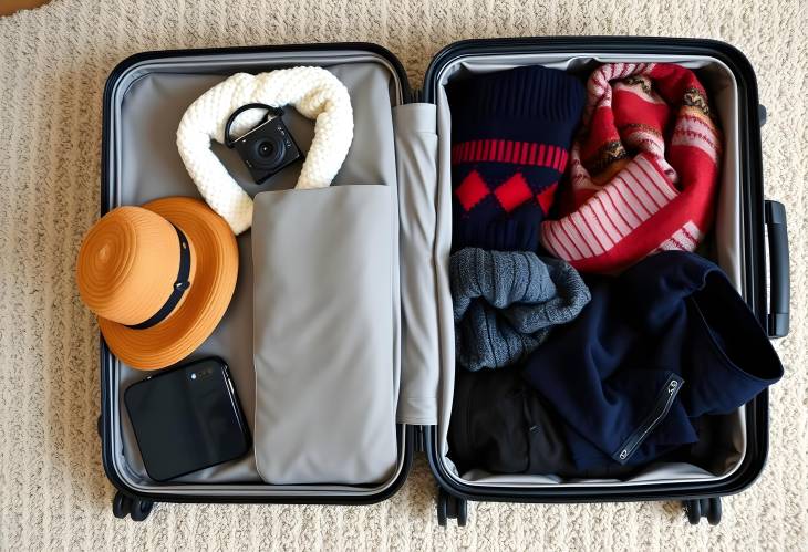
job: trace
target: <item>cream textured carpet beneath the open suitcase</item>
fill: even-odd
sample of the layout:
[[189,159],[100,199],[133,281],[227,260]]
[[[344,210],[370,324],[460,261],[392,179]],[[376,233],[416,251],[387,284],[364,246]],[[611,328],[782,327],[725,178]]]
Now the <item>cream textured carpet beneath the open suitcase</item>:
[[[0,549],[808,548],[808,45],[805,3],[614,0],[54,0],[0,18]],[[96,327],[74,290],[74,256],[99,205],[101,95],[121,59],[153,49],[361,40],[419,83],[445,44],[475,37],[667,34],[739,46],[769,108],[766,194],[788,207],[791,334],[771,392],[763,477],[692,528],[677,503],[472,504],[470,527],[435,521],[418,459],[373,507],[160,504],[114,519],[101,467]]]

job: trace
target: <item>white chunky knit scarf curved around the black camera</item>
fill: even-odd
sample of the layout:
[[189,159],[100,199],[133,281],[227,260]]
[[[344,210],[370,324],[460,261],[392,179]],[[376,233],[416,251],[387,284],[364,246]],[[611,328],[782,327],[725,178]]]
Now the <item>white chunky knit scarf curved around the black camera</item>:
[[[298,178],[298,189],[330,186],[353,139],[348,90],[321,67],[282,69],[258,75],[237,73],[199,96],[179,122],[179,156],[205,200],[236,235],[252,225],[252,199],[210,150],[210,138],[224,144],[228,117],[249,103],[292,105],[301,115],[315,119],[314,139]],[[260,110],[249,110],[236,118],[230,132],[239,136],[262,116]]]

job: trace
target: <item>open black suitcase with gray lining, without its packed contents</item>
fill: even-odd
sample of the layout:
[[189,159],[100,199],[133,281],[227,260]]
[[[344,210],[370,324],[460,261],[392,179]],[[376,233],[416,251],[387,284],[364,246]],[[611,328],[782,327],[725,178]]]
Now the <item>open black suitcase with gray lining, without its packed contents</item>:
[[[447,458],[447,426],[454,378],[454,335],[447,258],[452,237],[448,158],[450,114],[444,85],[457,74],[545,64],[584,73],[603,61],[670,61],[693,69],[712,94],[726,134],[716,228],[716,261],[727,272],[769,336],[788,332],[789,271],[783,205],[764,201],[758,105],[754,71],[734,48],[708,40],[667,38],[526,38],[469,40],[441,51],[426,71],[423,90],[411,90],[404,67],[375,44],[338,43],[148,52],[123,61],[104,92],[102,215],[121,205],[198,192],[177,155],[175,133],[187,105],[236,72],[280,66],[325,66],[353,96],[354,145],[334,185],[394,186],[400,294],[394,294],[397,464],[373,486],[273,486],[247,458],[158,483],[144,470],[123,408],[123,389],[145,374],[101,346],[103,465],[118,489],[117,517],[145,519],[155,502],[255,502],[362,504],[384,500],[404,483],[413,455],[425,454],[438,485],[441,524],[467,519],[468,500],[594,502],[681,500],[691,523],[717,523],[719,497],[749,486],[764,468],[768,448],[766,392],[722,417],[722,446],[712,472],[688,465],[653,465],[631,479],[563,481],[542,476],[476,473],[463,478]],[[307,126],[308,125],[308,126]],[[305,142],[311,125],[292,121]],[[297,126],[297,128],[296,128]],[[307,134],[308,133],[308,134]],[[305,136],[309,136],[307,138]],[[239,163],[218,152],[252,195]],[[349,170],[345,167],[351,166]],[[239,170],[242,170],[239,173]],[[274,180],[273,180],[274,183]],[[293,180],[291,181],[293,183]],[[276,184],[272,185],[273,187]],[[277,185],[291,187],[287,179]],[[241,269],[237,292],[216,332],[191,356],[225,357],[246,418],[252,423],[255,377],[251,351],[252,274],[250,232],[238,237]],[[767,257],[769,258],[767,262]],[[301,407],[304,403],[301,402]],[[393,430],[391,428],[391,430]]]

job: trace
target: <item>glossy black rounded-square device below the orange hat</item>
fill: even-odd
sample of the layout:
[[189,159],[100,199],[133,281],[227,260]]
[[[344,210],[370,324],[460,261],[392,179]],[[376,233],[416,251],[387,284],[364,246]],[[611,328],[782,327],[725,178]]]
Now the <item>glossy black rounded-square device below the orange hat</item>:
[[234,460],[249,449],[249,429],[221,358],[149,376],[126,389],[124,403],[155,481]]

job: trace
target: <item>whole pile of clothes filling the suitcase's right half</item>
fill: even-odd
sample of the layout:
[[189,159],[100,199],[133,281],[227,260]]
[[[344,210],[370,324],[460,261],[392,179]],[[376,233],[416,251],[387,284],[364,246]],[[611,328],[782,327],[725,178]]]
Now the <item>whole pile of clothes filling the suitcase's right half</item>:
[[605,64],[584,92],[524,66],[447,93],[458,469],[620,477],[779,379],[726,275],[690,253],[723,147],[695,73]]

